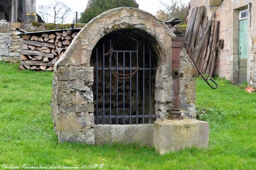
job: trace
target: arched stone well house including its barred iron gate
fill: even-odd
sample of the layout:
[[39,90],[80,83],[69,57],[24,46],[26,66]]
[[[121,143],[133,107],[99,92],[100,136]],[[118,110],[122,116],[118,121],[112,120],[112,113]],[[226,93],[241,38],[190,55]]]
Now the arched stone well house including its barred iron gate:
[[[115,8],[87,23],[54,64],[58,140],[152,145],[153,122],[172,107],[172,37],[166,24],[137,8]],[[112,58],[105,55],[111,49]],[[196,69],[184,49],[180,55],[180,108],[195,119]],[[112,72],[132,69],[138,71],[125,80]]]

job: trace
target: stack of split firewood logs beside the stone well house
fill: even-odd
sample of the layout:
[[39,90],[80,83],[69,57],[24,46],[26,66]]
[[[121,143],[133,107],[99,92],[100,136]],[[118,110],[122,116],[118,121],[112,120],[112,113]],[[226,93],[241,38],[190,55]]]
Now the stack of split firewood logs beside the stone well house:
[[53,70],[53,65],[68,49],[78,33],[71,30],[22,35],[20,70]]

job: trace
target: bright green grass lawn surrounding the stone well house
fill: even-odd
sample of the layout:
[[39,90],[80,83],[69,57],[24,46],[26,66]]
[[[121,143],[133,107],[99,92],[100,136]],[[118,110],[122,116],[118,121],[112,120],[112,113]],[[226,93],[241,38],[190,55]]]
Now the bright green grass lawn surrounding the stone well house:
[[0,168],[82,166],[103,169],[256,169],[256,93],[218,79],[212,90],[196,80],[197,107],[210,123],[208,149],[186,149],[160,156],[138,145],[58,143],[51,118],[52,72],[18,71],[0,63]]

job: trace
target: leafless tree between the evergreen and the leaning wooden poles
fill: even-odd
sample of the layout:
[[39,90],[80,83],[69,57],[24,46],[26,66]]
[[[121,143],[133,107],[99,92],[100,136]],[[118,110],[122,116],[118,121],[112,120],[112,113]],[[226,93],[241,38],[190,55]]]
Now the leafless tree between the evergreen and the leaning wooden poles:
[[160,1],[160,3],[165,7],[164,10],[158,10],[156,12],[156,17],[160,20],[166,21],[170,18],[178,17],[180,20],[184,21],[184,18],[188,12],[188,3],[182,2],[182,0],[170,0],[170,3],[165,4]]

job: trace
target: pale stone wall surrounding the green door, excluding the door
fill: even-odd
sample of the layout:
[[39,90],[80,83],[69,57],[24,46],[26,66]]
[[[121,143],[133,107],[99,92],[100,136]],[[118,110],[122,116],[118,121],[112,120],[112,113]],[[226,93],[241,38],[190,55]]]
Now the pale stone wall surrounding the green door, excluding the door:
[[[220,21],[219,38],[224,39],[224,48],[218,49],[215,73],[238,83],[238,38],[239,10],[248,8],[248,55],[247,82],[256,86],[256,0],[191,0],[190,9],[205,6],[205,16],[210,18],[216,9],[216,20]],[[252,3],[252,6],[249,5]],[[250,9],[251,8],[251,9]],[[189,12],[188,18],[191,16]]]

